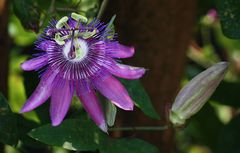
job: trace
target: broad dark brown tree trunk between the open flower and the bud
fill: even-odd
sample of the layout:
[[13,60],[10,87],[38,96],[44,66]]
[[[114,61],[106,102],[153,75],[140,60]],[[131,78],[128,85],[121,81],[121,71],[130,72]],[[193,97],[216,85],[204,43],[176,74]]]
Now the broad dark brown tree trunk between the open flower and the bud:
[[[117,15],[120,42],[136,49],[135,57],[126,62],[149,69],[142,82],[161,115],[161,121],[156,121],[140,111],[124,112],[127,117],[121,119],[122,124],[167,124],[165,108],[174,100],[184,72],[195,5],[196,0],[109,0],[104,20]],[[157,145],[162,153],[175,150],[174,130],[137,132],[136,137]]]

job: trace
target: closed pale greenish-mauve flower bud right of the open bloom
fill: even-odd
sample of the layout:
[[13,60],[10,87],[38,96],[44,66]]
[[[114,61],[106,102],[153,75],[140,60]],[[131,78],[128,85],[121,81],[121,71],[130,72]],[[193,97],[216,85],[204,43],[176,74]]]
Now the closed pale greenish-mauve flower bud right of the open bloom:
[[169,118],[174,125],[183,125],[203,107],[224,78],[227,67],[227,62],[217,63],[181,89],[170,110]]

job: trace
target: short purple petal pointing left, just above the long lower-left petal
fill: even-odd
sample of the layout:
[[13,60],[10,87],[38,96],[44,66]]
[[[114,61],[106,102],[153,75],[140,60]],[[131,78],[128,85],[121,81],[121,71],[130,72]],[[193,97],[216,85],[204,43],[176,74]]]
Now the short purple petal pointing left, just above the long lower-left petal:
[[21,68],[25,71],[37,70],[48,63],[47,54],[27,60],[21,64]]

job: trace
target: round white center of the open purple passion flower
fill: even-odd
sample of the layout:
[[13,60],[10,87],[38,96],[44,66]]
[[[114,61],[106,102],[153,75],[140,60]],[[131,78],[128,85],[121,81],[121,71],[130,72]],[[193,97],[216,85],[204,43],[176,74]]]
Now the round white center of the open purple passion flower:
[[88,53],[87,42],[80,38],[72,39],[64,45],[63,55],[72,62],[82,61]]

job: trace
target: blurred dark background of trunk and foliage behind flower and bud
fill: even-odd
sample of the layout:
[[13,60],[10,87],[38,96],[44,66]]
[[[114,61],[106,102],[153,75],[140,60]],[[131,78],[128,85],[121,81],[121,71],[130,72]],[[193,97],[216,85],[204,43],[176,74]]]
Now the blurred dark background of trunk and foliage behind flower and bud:
[[[34,41],[49,20],[71,12],[93,19],[101,3],[101,0],[0,0],[0,91],[13,112],[19,112],[39,81],[37,72],[23,72],[19,65],[34,53]],[[116,14],[114,27],[119,41],[136,49],[136,55],[124,63],[148,69],[141,82],[161,116],[158,121],[138,109],[119,110],[117,126],[167,124],[167,111],[184,84],[214,63],[230,63],[224,81],[185,127],[110,135],[142,138],[157,146],[161,153],[240,153],[240,1],[108,0],[106,4],[101,20],[107,23]],[[25,114],[25,118],[48,123],[47,105]],[[39,112],[45,115],[38,116]],[[26,148],[35,153],[70,152],[57,147]],[[19,151],[2,144],[0,152]]]

